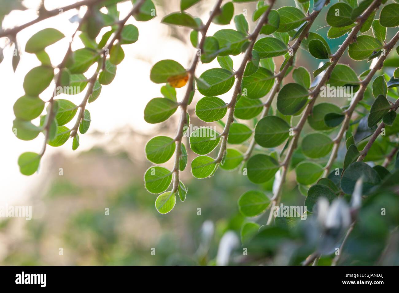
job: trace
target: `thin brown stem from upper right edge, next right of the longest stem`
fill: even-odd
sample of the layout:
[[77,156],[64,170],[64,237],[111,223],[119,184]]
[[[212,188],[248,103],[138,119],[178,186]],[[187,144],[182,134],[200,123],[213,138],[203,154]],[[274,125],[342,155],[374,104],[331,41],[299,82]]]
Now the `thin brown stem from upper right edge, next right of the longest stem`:
[[377,63],[375,63],[375,66],[371,69],[369,74],[367,74],[365,79],[363,79],[363,81],[361,82],[360,88],[359,88],[358,92],[356,92],[356,95],[355,95],[354,99],[352,100],[349,108],[345,111],[345,118],[344,118],[344,121],[342,122],[342,126],[340,128],[340,131],[338,132],[338,135],[333,140],[334,146],[332,147],[332,151],[331,151],[330,158],[328,159],[328,163],[327,163],[326,167],[324,167],[323,177],[328,176],[328,173],[330,172],[330,169],[331,169],[332,165],[334,164],[334,161],[337,157],[338,149],[340,147],[341,140],[344,137],[346,130],[348,130],[350,120],[352,118],[352,114],[353,114],[356,106],[363,99],[364,92],[367,89],[367,86],[369,85],[369,83],[371,82],[371,79],[373,78],[373,76],[375,75],[377,70],[382,68],[385,59],[387,58],[389,52],[392,50],[392,48],[395,46],[395,44],[397,43],[398,40],[399,40],[399,32],[396,33],[395,36],[391,39],[391,41],[389,41],[389,43],[387,43],[385,45],[385,55],[381,55],[378,58],[378,61],[377,61]]

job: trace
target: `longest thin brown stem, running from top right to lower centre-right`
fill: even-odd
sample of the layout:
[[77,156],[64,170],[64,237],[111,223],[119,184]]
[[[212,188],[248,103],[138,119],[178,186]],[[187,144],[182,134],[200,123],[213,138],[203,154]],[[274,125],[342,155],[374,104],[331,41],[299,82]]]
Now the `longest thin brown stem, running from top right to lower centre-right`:
[[288,147],[288,151],[287,151],[287,154],[285,156],[285,159],[284,159],[284,162],[283,162],[283,166],[282,166],[281,181],[280,181],[280,184],[278,185],[278,187],[276,189],[275,194],[272,197],[271,212],[270,212],[269,218],[267,220],[267,225],[270,225],[272,220],[273,220],[273,218],[274,218],[273,208],[274,208],[275,205],[278,205],[279,202],[280,202],[280,193],[281,193],[281,189],[282,189],[282,184],[285,181],[286,173],[288,171],[288,166],[289,166],[289,163],[291,161],[292,154],[294,153],[294,150],[297,147],[298,140],[299,140],[299,134],[302,131],[302,128],[304,127],[304,125],[305,125],[306,119],[308,118],[308,116],[312,112],[313,105],[316,102],[316,99],[317,99],[317,97],[318,97],[318,95],[320,93],[320,90],[321,90],[322,86],[328,81],[328,79],[330,79],[330,76],[331,76],[331,73],[332,73],[333,69],[335,68],[335,66],[337,65],[339,59],[342,57],[342,55],[346,51],[346,48],[350,44],[352,44],[354,41],[356,41],[356,35],[358,34],[361,26],[367,20],[369,15],[376,8],[378,8],[378,6],[380,4],[381,4],[381,0],[374,0],[370,4],[370,6],[363,12],[363,14],[361,14],[361,16],[359,17],[359,20],[358,20],[358,24],[352,29],[352,31],[350,32],[348,37],[346,37],[344,43],[342,43],[342,45],[340,46],[338,51],[336,51],[336,53],[334,55],[332,55],[332,57],[330,59],[332,64],[326,69],[326,72],[324,73],[322,79],[320,80],[318,85],[316,85],[316,88],[314,88],[314,90],[310,93],[310,96],[309,96],[310,102],[306,106],[306,108],[304,110],[304,113],[302,114],[298,124],[294,128],[294,137],[292,138],[292,140],[290,142],[290,145]]

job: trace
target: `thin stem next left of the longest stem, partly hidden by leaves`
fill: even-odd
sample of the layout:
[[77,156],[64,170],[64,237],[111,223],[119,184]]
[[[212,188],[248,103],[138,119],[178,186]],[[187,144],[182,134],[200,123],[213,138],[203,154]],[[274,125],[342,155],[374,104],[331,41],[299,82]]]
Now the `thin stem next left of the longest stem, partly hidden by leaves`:
[[[293,50],[293,56],[296,54],[296,51],[298,51],[299,46],[302,43],[302,41],[309,35],[310,27],[312,26],[314,20],[316,19],[316,17],[318,16],[319,13],[320,13],[320,11],[313,11],[309,15],[309,17],[308,17],[309,23],[306,25],[306,28],[302,31],[302,33],[300,33],[300,35],[298,36],[298,39],[296,39],[296,41],[294,42],[294,44],[291,47],[291,49]],[[269,113],[271,103],[273,102],[273,99],[275,98],[277,92],[279,92],[281,82],[284,79],[285,73],[287,72],[288,68],[290,68],[290,66],[292,66],[292,62],[293,62],[293,59],[291,59],[286,65],[284,65],[284,67],[281,69],[281,71],[275,75],[276,81],[273,84],[273,88],[270,91],[269,97],[267,98],[265,104],[263,104],[265,107],[263,108],[263,111],[261,113],[259,120],[264,118],[265,116],[267,116],[267,114]],[[249,143],[249,147],[248,147],[247,151],[244,153],[243,163],[245,163],[249,159],[255,146],[256,146],[255,138],[252,138],[251,142]]]

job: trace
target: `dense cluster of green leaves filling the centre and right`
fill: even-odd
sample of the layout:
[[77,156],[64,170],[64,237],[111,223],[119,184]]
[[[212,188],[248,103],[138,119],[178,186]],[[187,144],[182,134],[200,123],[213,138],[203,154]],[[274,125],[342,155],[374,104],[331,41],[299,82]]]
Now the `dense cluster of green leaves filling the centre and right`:
[[[188,2],[195,4],[199,1],[182,0],[182,11],[166,16],[163,22],[192,28],[190,41],[194,47],[201,49],[201,62],[209,63],[216,58],[220,68],[208,69],[199,77],[194,77],[193,84],[188,85],[188,90],[191,91],[190,99],[185,104],[184,101],[177,101],[174,87],[184,86],[188,76],[194,72],[184,69],[173,60],[156,63],[151,70],[150,79],[154,83],[166,83],[161,89],[164,97],[154,98],[147,104],[144,119],[148,123],[165,121],[179,107],[186,114],[186,107],[192,101],[194,90],[198,90],[203,97],[195,106],[196,116],[203,122],[218,122],[218,125],[224,126],[224,130],[219,133],[213,128],[201,127],[190,134],[190,148],[199,155],[191,162],[194,177],[212,176],[219,166],[225,170],[241,167],[241,171],[251,182],[273,192],[272,199],[259,190],[244,193],[238,205],[241,213],[247,217],[259,216],[268,208],[272,214],[273,207],[279,203],[279,193],[289,169],[295,171],[298,189],[306,197],[304,205],[307,206],[308,216],[314,212],[321,197],[327,198],[333,206],[337,206],[338,203],[348,206],[356,182],[361,181],[362,195],[371,195],[381,187],[391,187],[395,184],[399,162],[392,163],[396,168],[393,171],[389,171],[387,166],[391,164],[398,149],[399,120],[395,119],[398,102],[391,102],[390,98],[399,98],[399,69],[395,69],[399,64],[399,57],[396,55],[399,54],[399,48],[396,47],[395,55],[390,59],[386,58],[398,41],[398,33],[395,32],[395,36],[389,42],[385,39],[387,28],[399,26],[398,3],[383,6],[379,19],[375,19],[378,8],[387,1],[363,0],[358,3],[356,0],[342,0],[332,4],[326,12],[326,22],[330,26],[327,37],[334,39],[348,34],[342,48],[333,54],[322,35],[309,31],[314,18],[329,4],[328,1],[314,1],[311,14],[308,0],[295,1],[296,7],[284,6],[276,10],[271,9],[274,1],[271,1],[270,5],[259,1],[252,20],[257,21],[262,15],[267,14],[267,21],[261,24],[259,32],[267,36],[260,37],[251,46],[253,36],[249,33],[245,16],[239,14],[234,16],[236,30],[221,29],[213,36],[204,34],[203,48],[198,46],[199,31],[204,33],[201,30],[203,24],[198,18],[184,12],[189,7]],[[234,15],[233,2],[221,6],[219,14],[212,22],[229,24]],[[308,51],[316,59],[324,59],[312,75],[306,68],[293,65],[298,47]],[[239,70],[233,69],[233,61],[229,55],[247,53],[248,48],[251,49],[251,58],[246,60],[244,57],[245,70],[241,75]],[[350,66],[338,64],[346,48],[349,57],[355,61],[374,59],[370,69],[358,75]],[[280,68],[275,67],[273,60],[273,57],[277,56],[284,56]],[[378,63],[380,64],[375,65]],[[379,75],[371,83],[373,75],[381,68],[382,71],[379,71]],[[290,72],[294,83],[283,85],[283,77]],[[239,83],[239,96],[237,99],[233,96],[232,102],[226,104],[218,96],[228,92],[235,82]],[[354,101],[342,107],[331,102],[315,105],[314,102],[325,84],[335,88],[353,88],[356,92]],[[269,92],[268,100],[263,102],[261,98]],[[271,102],[275,95],[277,102],[275,107],[272,107]],[[356,109],[356,119],[352,118],[354,109],[351,107]],[[234,117],[230,119],[228,115],[227,121],[222,122],[229,112],[232,112]],[[300,116],[299,122],[297,116]],[[249,123],[240,120],[247,120]],[[381,120],[386,127],[383,134],[375,140],[372,135]],[[180,123],[185,122],[186,125],[188,121],[180,120]],[[251,129],[251,122],[255,125],[254,129]],[[298,124],[295,126],[296,122]],[[301,133],[306,122],[314,132]],[[332,139],[331,136],[336,134],[339,128],[341,129],[337,138]],[[180,131],[184,131],[184,128],[178,128],[175,139],[166,136],[152,138],[145,149],[148,160],[160,164],[172,158],[176,145],[181,146],[181,151],[176,152],[178,156],[175,158],[175,162],[178,161],[178,164],[175,164],[179,166],[178,169],[170,171],[164,167],[152,166],[144,175],[146,189],[150,193],[160,194],[156,199],[156,208],[162,214],[172,210],[176,204],[176,195],[181,201],[186,198],[187,190],[181,181],[178,189],[172,187],[172,191],[166,191],[173,177],[178,176],[179,170],[185,169],[188,161],[186,146],[181,144]],[[340,163],[335,162],[335,158],[343,134],[347,152],[344,161]],[[300,143],[297,145],[298,138]],[[250,140],[245,153],[237,148],[226,147],[227,143],[241,145],[239,148],[242,149]],[[367,144],[371,147],[366,147]],[[215,151],[217,146],[220,147],[215,158],[209,154]],[[252,155],[253,149],[257,154]],[[382,165],[384,159],[386,163]],[[375,165],[371,167],[372,165],[363,163],[363,160],[372,161]],[[336,168],[329,173],[331,167]],[[344,203],[341,199],[344,199]],[[349,214],[349,208],[347,210]],[[269,217],[268,225],[271,224],[270,219],[273,217]],[[278,221],[286,223],[291,220],[278,217],[275,222],[279,226]],[[259,230],[259,224],[247,222],[242,228],[242,239],[259,234],[286,233],[285,230],[282,232],[281,227],[266,228]],[[345,228],[348,227],[342,229]],[[342,233],[337,235],[342,236]],[[334,240],[335,245],[337,239]]]

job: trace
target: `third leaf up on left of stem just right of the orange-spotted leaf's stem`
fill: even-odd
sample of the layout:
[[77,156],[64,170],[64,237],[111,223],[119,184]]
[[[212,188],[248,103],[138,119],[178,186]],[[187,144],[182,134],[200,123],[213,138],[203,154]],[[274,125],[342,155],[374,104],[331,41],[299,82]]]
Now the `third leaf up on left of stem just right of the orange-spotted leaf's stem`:
[[203,97],[197,102],[196,115],[205,122],[220,120],[227,112],[227,104],[217,96]]

